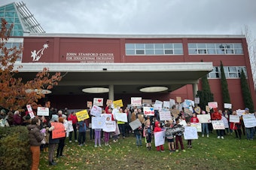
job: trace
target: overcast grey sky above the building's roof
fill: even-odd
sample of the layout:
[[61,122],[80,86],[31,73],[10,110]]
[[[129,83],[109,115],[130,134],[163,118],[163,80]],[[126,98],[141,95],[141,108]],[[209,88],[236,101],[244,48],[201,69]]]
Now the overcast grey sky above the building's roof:
[[256,36],[256,0],[23,2],[47,33],[237,35],[246,25]]

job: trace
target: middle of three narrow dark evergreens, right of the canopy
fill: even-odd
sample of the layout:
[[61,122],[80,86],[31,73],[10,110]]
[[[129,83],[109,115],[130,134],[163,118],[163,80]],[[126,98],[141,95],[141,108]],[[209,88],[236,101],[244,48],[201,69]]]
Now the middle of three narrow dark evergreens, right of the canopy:
[[230,93],[228,91],[227,79],[226,79],[222,61],[221,61],[221,91],[222,91],[223,102],[230,103]]

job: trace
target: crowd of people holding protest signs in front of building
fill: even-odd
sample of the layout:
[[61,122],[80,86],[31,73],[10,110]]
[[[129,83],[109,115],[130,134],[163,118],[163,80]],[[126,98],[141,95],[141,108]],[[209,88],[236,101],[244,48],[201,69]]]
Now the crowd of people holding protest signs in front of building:
[[[47,107],[50,107],[47,106]],[[90,109],[88,109],[90,114]],[[57,110],[54,108],[50,109],[49,117],[36,116],[36,111],[34,112],[35,118],[30,119],[29,114],[21,115],[20,111],[11,111],[6,114],[5,109],[1,110],[0,120],[7,120],[9,126],[27,126],[29,130],[29,144],[32,152],[32,169],[38,169],[40,151],[48,152],[49,165],[56,165],[54,158],[59,158],[65,156],[63,150],[65,147],[65,141],[67,136],[62,138],[53,138],[54,126],[52,123],[62,123],[64,129],[67,130],[66,122],[72,122],[72,132],[67,132],[66,135],[69,136],[68,141],[70,143],[77,142],[79,146],[83,146],[86,141],[86,132],[90,130],[90,140],[94,138],[94,147],[102,147],[101,141],[104,141],[105,146],[109,145],[110,140],[117,142],[119,138],[126,138],[127,136],[134,136],[136,138],[136,146],[142,146],[142,138],[145,138],[146,147],[151,150],[152,138],[154,138],[154,133],[166,131],[166,141],[168,144],[169,152],[178,152],[179,146],[181,150],[185,152],[183,144],[183,132],[184,126],[181,126],[181,120],[186,121],[186,126],[190,126],[191,123],[200,123],[197,118],[198,114],[210,114],[211,120],[223,120],[226,119],[229,126],[225,129],[216,129],[217,138],[224,139],[224,135],[236,135],[236,138],[241,139],[242,135],[245,135],[248,140],[253,140],[255,134],[255,128],[246,128],[242,116],[239,118],[239,123],[230,122],[230,115],[236,115],[236,111],[231,111],[230,109],[225,109],[224,112],[218,110],[218,108],[213,108],[212,112],[200,111],[192,114],[185,114],[184,109],[180,111],[178,116],[173,116],[171,114],[170,120],[160,120],[159,111],[154,111],[154,116],[146,116],[143,113],[143,108],[132,107],[132,108],[119,108],[117,113],[126,113],[127,122],[122,122],[116,120],[110,105],[107,105],[105,109],[102,109],[102,114],[111,114],[111,120],[116,121],[116,130],[114,132],[103,132],[102,129],[92,129],[91,117],[87,120],[78,121],[75,112],[69,113],[67,108],[63,110]],[[245,108],[244,114],[250,114],[248,108]],[[255,113],[254,113],[255,114]],[[132,129],[129,123],[139,120],[142,126],[137,129]],[[212,123],[202,123],[202,137],[209,138],[210,133],[213,131]],[[167,133],[166,129],[180,129],[173,133]],[[77,133],[78,132],[78,133]],[[74,134],[74,135],[73,135]],[[73,138],[74,137],[74,138]],[[104,137],[104,138],[103,138]],[[73,138],[73,140],[72,140]],[[187,148],[192,147],[192,140],[187,140]],[[156,147],[159,152],[164,152],[163,144]]]

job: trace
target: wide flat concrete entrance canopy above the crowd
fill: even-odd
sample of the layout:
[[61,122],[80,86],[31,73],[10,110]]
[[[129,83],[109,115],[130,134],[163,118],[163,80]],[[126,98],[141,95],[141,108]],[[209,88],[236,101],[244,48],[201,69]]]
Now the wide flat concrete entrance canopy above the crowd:
[[114,86],[114,93],[142,93],[143,87],[167,87],[172,92],[212,71],[212,62],[157,63],[17,63],[19,77],[32,80],[35,73],[49,68],[64,77],[51,95],[82,95],[84,88]]

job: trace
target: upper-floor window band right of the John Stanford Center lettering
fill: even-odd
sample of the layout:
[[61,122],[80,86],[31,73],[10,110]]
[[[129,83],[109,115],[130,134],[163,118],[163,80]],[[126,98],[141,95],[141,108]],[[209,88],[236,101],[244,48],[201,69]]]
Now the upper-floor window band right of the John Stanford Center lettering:
[[126,55],[182,55],[181,43],[159,43],[159,44],[125,44]]

